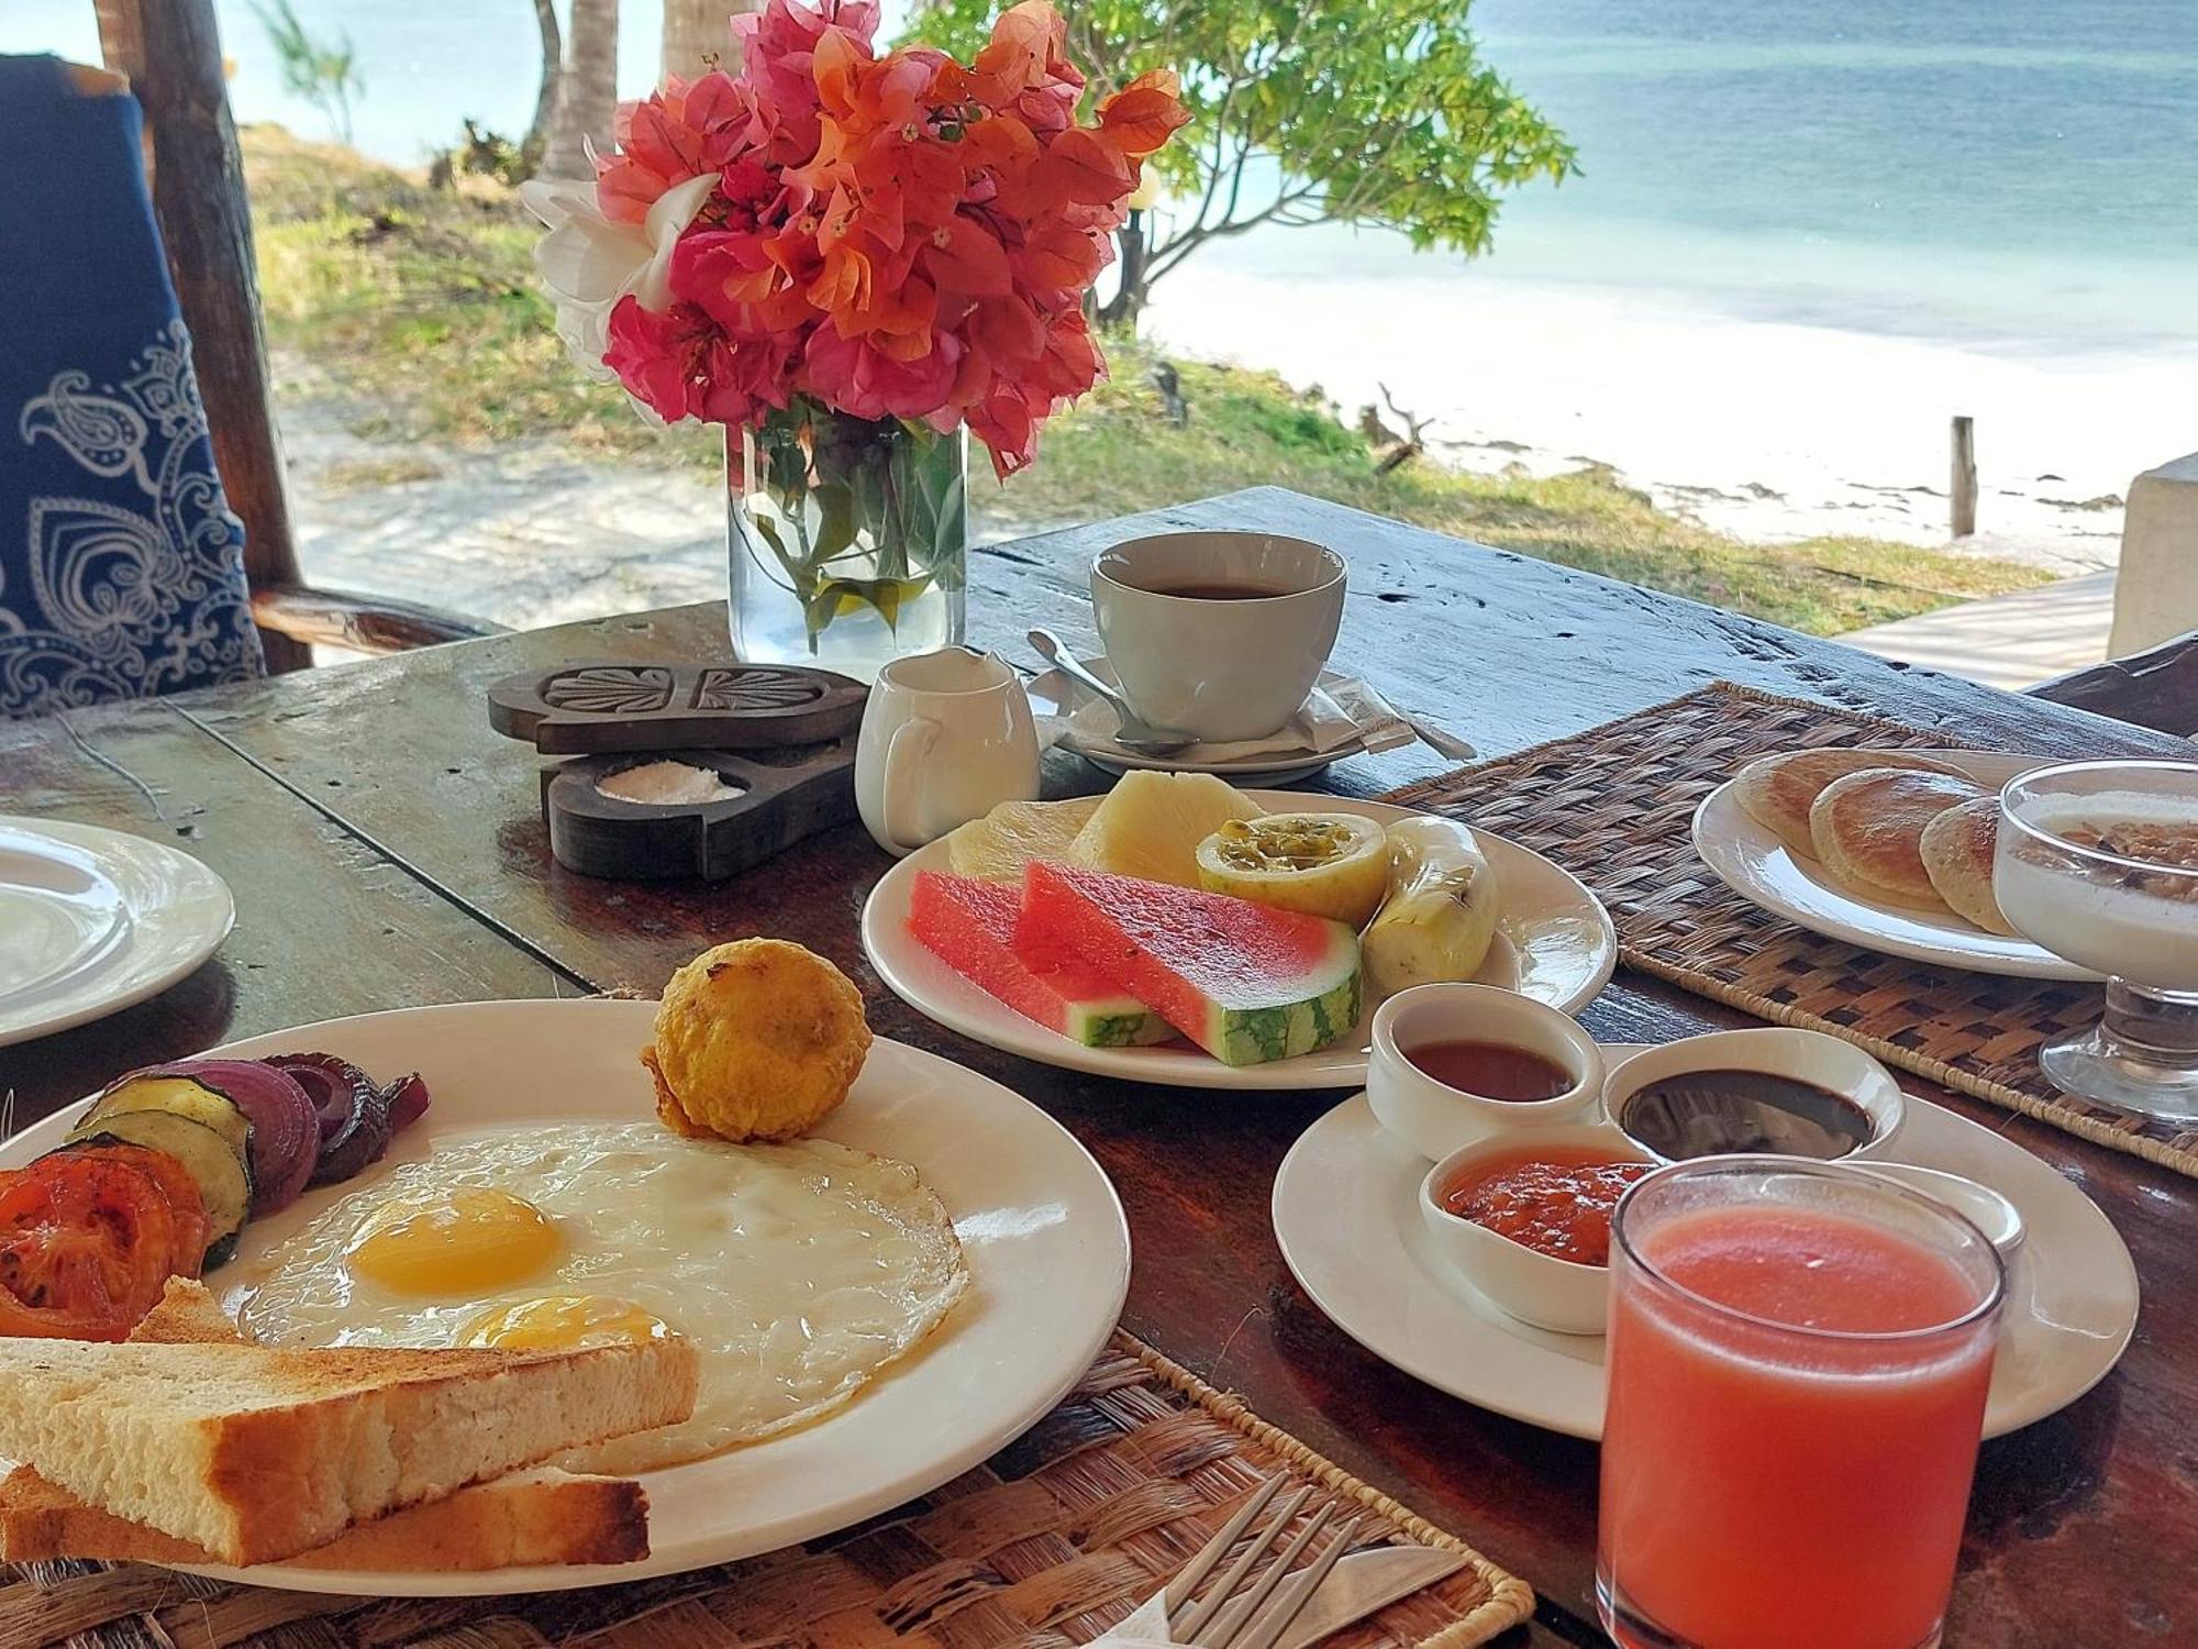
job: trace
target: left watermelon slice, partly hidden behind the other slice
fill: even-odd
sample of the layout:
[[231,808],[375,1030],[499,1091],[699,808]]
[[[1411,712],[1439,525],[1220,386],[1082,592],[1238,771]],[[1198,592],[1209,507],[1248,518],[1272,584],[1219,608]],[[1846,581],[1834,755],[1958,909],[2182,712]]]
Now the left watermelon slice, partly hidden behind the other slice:
[[1165,1042],[1167,1020],[1077,956],[1015,948],[1022,893],[1000,882],[917,871],[908,932],[978,989],[1092,1049]]

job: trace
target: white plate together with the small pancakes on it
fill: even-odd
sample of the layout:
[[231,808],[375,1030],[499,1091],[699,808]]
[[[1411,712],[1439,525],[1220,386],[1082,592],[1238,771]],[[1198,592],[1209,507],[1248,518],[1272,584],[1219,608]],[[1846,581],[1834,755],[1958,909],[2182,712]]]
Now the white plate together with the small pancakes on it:
[[1734,893],[1827,939],[2016,978],[2099,978],[2000,915],[2000,787],[2046,765],[1989,750],[1789,750],[1695,811],[1695,851]]

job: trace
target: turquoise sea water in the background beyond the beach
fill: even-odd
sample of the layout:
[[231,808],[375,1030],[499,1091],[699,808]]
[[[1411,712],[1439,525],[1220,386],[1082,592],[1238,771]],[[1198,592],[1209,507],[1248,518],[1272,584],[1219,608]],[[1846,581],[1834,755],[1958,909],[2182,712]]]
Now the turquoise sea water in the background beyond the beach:
[[[240,119],[323,132],[251,4],[218,9]],[[525,123],[525,0],[297,9],[358,44],[363,150],[418,163],[462,114]],[[624,0],[629,90],[653,79],[657,15]],[[1488,277],[2009,350],[2198,341],[2198,0],[1481,0],[1477,20],[1583,163],[1512,200]],[[0,0],[0,51],[35,48],[95,55],[88,0]],[[1328,231],[1218,257],[1354,277],[1448,262]]]

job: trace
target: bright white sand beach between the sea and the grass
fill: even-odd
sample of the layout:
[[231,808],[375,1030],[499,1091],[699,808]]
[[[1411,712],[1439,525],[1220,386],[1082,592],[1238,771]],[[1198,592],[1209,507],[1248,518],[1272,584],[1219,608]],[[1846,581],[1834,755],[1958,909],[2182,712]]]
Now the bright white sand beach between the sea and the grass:
[[1444,462],[1609,464],[1752,541],[1947,543],[1947,424],[1967,413],[1980,530],[1961,547],[2082,574],[2112,565],[2130,477],[2191,444],[2198,343],[1873,334],[1455,266],[1400,279],[1394,255],[1378,279],[1290,277],[1279,240],[1262,268],[1187,264],[1150,332],[1319,385],[1347,418],[1387,383]]

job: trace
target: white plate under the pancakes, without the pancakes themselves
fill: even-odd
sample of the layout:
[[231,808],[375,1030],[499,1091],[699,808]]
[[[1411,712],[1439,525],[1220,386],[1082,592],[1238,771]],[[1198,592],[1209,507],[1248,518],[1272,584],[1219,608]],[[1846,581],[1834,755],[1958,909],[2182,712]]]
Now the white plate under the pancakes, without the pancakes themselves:
[[[1989,750],[1910,750],[1906,754],[1943,761],[1991,789],[2016,774],[2044,765],[2038,756],[2005,756]],[[1772,829],[1758,824],[1734,798],[1732,781],[1712,789],[1695,809],[1695,851],[1743,899],[1827,939],[1844,939],[1888,956],[1965,967],[1978,974],[2099,978],[2088,967],[2062,961],[2029,939],[1985,932],[1952,910],[1877,904],[1855,893],[1818,860],[1794,853]]]

